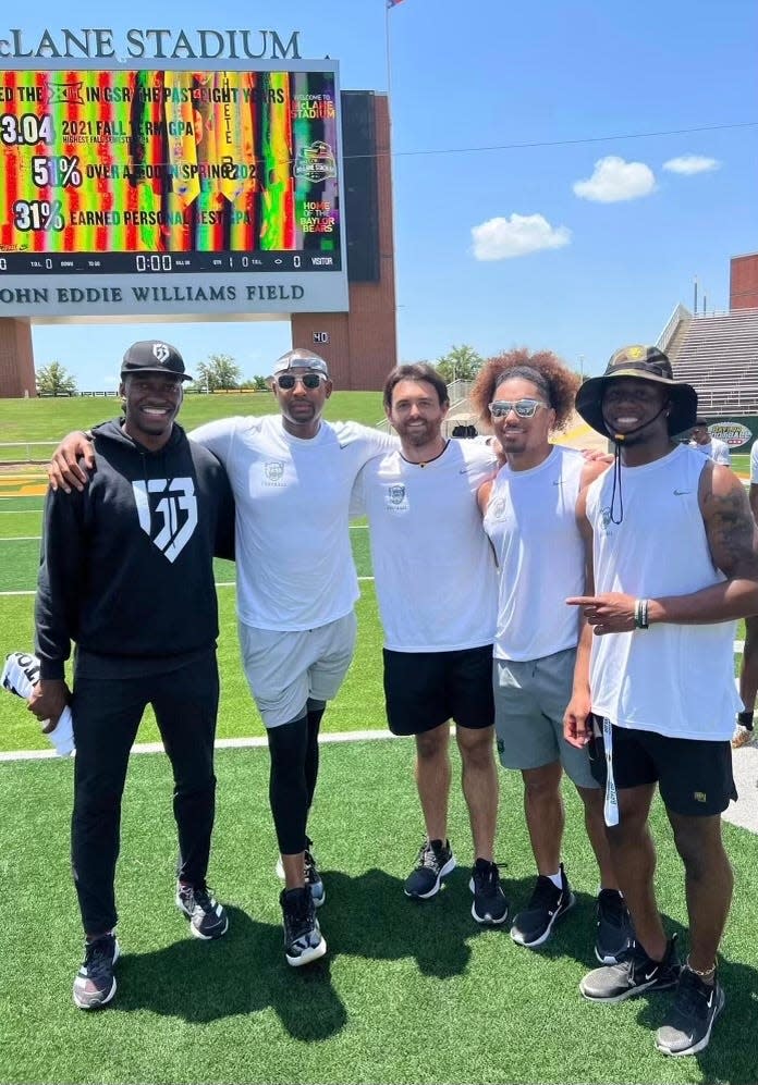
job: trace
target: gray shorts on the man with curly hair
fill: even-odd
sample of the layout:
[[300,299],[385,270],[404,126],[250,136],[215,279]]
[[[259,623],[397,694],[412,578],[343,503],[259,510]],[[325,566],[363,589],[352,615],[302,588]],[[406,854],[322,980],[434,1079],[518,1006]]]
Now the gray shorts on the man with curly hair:
[[575,649],[516,663],[494,659],[494,731],[503,768],[541,768],[560,761],[582,788],[597,788],[586,748],[563,738],[574,682]]

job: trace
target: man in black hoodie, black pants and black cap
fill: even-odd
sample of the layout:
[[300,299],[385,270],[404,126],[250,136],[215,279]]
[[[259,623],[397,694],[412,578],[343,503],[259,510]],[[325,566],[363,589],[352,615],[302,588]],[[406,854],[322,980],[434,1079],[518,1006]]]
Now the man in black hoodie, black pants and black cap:
[[73,496],[48,493],[35,605],[32,711],[57,718],[71,700],[74,717],[72,863],[86,945],[73,997],[84,1010],[115,994],[121,797],[148,704],[174,776],[176,907],[198,938],[229,925],[206,871],[219,695],[212,558],[233,555],[234,502],[216,457],[174,422],[191,380],[176,348],[135,343],[121,379],[124,418],[95,429],[90,484]]

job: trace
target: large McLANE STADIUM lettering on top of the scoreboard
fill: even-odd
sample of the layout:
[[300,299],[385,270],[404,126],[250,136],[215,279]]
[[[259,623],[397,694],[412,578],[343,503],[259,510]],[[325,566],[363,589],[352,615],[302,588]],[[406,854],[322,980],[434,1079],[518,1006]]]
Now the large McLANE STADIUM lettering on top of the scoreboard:
[[108,27],[42,30],[30,36],[0,30],[0,59],[5,60],[301,60],[299,30],[284,40],[277,30],[126,30],[123,40]]

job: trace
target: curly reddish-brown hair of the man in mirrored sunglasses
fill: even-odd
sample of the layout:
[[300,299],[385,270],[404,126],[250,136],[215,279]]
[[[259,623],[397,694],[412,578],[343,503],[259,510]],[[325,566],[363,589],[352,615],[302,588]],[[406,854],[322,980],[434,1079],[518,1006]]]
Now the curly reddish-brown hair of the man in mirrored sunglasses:
[[479,420],[490,424],[489,405],[494,398],[496,389],[508,381],[512,370],[531,370],[513,373],[533,380],[540,393],[555,411],[555,429],[564,430],[574,412],[574,400],[582,383],[577,373],[572,372],[552,350],[538,350],[529,354],[526,347],[504,350],[489,358],[479,370],[470,393],[472,407]]

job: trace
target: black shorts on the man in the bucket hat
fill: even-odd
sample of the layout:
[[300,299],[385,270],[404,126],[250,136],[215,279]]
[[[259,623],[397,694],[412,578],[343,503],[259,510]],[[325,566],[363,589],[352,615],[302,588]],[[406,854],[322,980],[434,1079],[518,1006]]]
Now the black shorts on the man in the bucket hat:
[[[606,786],[602,717],[592,716],[589,761],[592,776]],[[661,799],[675,814],[720,814],[737,798],[729,740],[674,739],[655,731],[613,727],[613,779],[616,789],[658,782]]]

